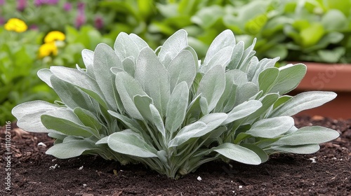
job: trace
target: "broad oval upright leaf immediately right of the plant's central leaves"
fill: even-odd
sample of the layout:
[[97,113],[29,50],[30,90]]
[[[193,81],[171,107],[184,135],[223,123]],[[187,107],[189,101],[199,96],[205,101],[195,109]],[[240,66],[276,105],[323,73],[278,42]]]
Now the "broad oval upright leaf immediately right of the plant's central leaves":
[[212,111],[225,90],[225,72],[223,66],[215,66],[204,75],[199,83],[197,94],[202,94],[208,102],[208,111]]

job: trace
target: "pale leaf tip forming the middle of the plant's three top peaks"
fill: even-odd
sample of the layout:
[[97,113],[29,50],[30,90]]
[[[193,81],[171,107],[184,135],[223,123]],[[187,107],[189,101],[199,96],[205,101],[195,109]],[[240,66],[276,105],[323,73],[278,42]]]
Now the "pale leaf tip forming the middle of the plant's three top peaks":
[[[185,47],[187,47],[187,31],[180,29],[164,42],[159,51],[159,60],[163,64],[168,64]],[[166,55],[170,57],[168,62],[165,62]]]

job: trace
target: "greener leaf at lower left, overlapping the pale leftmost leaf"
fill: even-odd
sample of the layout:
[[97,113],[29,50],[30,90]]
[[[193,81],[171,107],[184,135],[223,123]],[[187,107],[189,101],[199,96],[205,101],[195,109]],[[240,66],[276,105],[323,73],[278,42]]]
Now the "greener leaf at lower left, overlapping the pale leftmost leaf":
[[81,120],[70,109],[57,109],[55,111],[47,111],[41,115],[41,122],[49,130],[55,130],[62,134],[91,137],[98,137],[98,131],[91,127],[86,127]]

